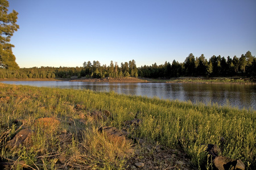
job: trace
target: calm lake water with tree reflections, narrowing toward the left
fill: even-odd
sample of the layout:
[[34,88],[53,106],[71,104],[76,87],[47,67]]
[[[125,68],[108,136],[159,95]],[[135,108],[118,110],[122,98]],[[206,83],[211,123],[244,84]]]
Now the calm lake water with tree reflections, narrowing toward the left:
[[38,87],[114,91],[118,94],[159,97],[160,99],[227,104],[256,109],[256,85],[204,83],[102,83],[102,82],[2,82]]

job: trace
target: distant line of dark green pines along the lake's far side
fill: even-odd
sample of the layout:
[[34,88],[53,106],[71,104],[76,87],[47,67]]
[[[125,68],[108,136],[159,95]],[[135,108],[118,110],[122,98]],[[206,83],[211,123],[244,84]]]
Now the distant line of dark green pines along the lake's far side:
[[46,79],[46,78],[122,78],[127,76],[142,78],[175,78],[179,76],[247,76],[256,77],[256,58],[248,51],[240,58],[212,56],[205,59],[204,54],[195,57],[193,54],[179,63],[175,60],[165,62],[163,65],[137,67],[134,60],[121,63],[110,62],[109,66],[100,64],[99,61],[84,62],[82,67],[32,67],[19,70],[0,69],[0,78],[9,79]]

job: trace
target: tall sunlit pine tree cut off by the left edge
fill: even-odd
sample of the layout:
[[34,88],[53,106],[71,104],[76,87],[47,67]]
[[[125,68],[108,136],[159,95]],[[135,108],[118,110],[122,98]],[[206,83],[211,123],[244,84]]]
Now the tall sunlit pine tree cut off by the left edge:
[[8,14],[8,7],[7,0],[0,0],[0,68],[19,69],[11,49],[14,45],[10,44],[11,36],[19,29],[19,25],[16,24],[18,12],[13,10]]

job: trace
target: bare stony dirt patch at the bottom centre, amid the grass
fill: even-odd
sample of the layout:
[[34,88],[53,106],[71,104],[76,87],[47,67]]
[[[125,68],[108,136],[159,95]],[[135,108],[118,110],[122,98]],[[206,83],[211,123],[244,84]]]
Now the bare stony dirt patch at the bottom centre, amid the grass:
[[139,143],[135,154],[127,160],[127,169],[193,169],[188,156],[179,149]]

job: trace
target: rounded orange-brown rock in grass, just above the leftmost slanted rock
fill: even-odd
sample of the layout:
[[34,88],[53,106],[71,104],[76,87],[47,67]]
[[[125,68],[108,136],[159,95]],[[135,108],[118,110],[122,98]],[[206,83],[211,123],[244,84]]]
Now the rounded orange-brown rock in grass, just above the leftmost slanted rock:
[[34,125],[36,128],[40,127],[42,129],[49,129],[52,131],[57,129],[57,127],[60,125],[60,121],[55,117],[43,117],[35,120]]

